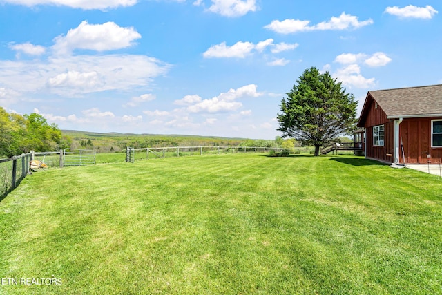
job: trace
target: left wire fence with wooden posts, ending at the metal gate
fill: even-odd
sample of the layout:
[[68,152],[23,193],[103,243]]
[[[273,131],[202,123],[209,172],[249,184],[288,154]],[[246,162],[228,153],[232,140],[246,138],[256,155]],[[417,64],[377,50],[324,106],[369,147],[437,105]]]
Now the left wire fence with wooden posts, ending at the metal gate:
[[12,158],[0,159],[0,200],[15,189],[26,175],[32,173],[32,170],[88,164],[95,164],[95,151],[80,149],[51,152],[30,151],[30,153],[23,153]]

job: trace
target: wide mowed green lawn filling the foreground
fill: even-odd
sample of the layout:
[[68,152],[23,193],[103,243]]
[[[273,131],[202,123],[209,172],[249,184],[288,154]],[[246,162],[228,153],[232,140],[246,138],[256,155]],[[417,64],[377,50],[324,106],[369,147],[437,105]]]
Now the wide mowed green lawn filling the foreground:
[[0,202],[0,278],[61,285],[0,294],[441,294],[441,195],[345,155],[50,169]]

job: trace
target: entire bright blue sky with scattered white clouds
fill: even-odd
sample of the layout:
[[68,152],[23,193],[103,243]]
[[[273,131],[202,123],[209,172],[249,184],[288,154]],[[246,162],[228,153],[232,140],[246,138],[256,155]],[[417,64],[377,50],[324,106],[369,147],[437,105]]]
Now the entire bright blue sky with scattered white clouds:
[[0,106],[60,129],[273,139],[305,68],[442,83],[440,1],[0,0]]

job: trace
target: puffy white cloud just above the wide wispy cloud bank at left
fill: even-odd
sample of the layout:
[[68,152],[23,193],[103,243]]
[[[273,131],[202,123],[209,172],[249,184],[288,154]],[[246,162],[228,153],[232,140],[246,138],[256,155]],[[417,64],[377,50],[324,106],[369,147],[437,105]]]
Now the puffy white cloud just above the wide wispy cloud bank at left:
[[59,54],[75,49],[116,50],[132,46],[133,41],[140,38],[134,28],[123,28],[112,21],[96,25],[83,21],[77,28],[70,29],[66,36],[56,37],[53,49]]

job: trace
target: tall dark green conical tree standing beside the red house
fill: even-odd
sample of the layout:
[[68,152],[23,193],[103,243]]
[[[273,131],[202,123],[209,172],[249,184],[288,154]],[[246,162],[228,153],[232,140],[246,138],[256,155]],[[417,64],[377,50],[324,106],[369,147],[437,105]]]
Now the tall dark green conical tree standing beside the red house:
[[307,68],[296,82],[282,99],[277,130],[283,137],[314,145],[314,155],[319,155],[320,146],[352,129],[358,103],[328,71]]

